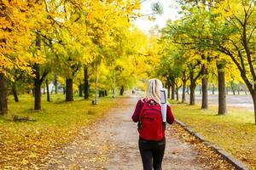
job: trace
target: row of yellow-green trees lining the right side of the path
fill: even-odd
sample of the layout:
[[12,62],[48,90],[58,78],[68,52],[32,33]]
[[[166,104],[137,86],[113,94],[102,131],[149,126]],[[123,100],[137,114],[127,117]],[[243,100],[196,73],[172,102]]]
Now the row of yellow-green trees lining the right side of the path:
[[180,1],[182,17],[161,31],[163,54],[157,72],[168,88],[189,81],[189,104],[195,105],[195,86],[201,80],[202,104],[207,109],[208,82],[218,81],[218,114],[226,113],[225,82],[243,81],[250,92],[256,123],[255,28],[253,0]]

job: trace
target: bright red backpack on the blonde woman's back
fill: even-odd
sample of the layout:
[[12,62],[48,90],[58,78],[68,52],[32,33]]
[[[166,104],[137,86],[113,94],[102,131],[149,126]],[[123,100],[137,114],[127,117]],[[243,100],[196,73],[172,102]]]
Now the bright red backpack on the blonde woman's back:
[[139,116],[138,132],[142,139],[160,141],[164,138],[161,106],[153,99],[145,100]]

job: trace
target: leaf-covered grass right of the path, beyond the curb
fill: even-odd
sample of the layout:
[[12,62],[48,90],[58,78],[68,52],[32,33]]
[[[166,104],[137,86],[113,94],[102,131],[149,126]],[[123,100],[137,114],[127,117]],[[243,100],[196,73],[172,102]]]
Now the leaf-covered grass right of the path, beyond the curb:
[[218,108],[201,110],[199,105],[172,104],[174,116],[205,139],[230,152],[248,167],[256,169],[256,125],[253,112],[228,108],[228,115],[217,116]]

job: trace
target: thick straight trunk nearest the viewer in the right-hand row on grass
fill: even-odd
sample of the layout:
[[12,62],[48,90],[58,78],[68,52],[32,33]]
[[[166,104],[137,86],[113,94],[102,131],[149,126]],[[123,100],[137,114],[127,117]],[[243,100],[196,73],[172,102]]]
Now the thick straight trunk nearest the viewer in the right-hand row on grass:
[[225,90],[225,73],[224,64],[219,63],[218,68],[218,115],[227,113],[226,90]]

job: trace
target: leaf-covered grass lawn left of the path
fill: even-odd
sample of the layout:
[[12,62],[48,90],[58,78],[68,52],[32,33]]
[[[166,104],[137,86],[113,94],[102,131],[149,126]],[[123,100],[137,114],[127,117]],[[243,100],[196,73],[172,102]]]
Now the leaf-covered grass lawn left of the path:
[[[20,96],[20,102],[9,98],[9,114],[0,116],[0,169],[1,167],[29,166],[39,161],[49,150],[69,142],[83,127],[112,108],[118,99],[100,98],[99,105],[91,100],[75,97],[66,103],[64,95],[52,95],[52,102],[42,96],[43,111],[34,112],[32,96]],[[14,116],[29,116],[31,121],[14,122]]]

